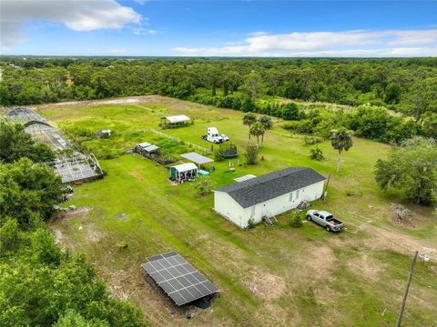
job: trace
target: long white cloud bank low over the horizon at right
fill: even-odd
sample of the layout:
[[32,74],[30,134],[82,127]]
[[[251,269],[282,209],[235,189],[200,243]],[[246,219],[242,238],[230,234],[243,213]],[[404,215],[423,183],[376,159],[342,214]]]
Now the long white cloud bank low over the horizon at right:
[[243,44],[217,47],[175,47],[185,55],[223,56],[432,56],[437,55],[437,29],[256,32]]

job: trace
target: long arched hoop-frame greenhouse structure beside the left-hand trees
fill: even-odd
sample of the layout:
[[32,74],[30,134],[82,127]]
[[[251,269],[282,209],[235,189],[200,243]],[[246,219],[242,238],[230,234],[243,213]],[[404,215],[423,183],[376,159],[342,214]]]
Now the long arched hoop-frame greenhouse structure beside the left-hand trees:
[[[72,145],[46,119],[34,110],[18,107],[5,110],[5,120],[9,123],[25,125],[25,132],[37,142],[48,144],[58,154],[55,161],[43,163],[61,176],[63,183],[72,183],[99,178],[103,171],[94,154],[81,154],[73,150]],[[66,155],[62,152],[71,150]]]

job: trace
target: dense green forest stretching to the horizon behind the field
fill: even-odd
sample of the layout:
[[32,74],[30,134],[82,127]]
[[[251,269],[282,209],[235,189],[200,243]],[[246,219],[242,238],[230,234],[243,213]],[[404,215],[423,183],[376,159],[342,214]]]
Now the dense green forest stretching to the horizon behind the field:
[[[344,125],[399,144],[437,135],[437,58],[219,59],[2,57],[0,104],[161,94],[279,116],[298,133],[326,136]],[[359,106],[354,114],[304,114],[279,99]],[[386,109],[400,113],[388,114]],[[403,117],[412,117],[404,119]]]

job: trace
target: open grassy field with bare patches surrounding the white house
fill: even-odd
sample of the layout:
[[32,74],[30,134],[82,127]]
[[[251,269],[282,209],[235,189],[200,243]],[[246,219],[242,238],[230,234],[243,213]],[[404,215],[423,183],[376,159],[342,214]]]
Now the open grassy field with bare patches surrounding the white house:
[[[432,208],[422,207],[412,207],[411,223],[393,223],[392,203],[401,203],[400,194],[378,190],[372,173],[388,145],[355,139],[336,174],[336,153],[328,142],[319,144],[326,160],[312,161],[302,137],[275,119],[260,150],[262,161],[240,167],[234,160],[235,173],[227,173],[228,161],[216,163],[211,178],[219,186],[287,166],[331,173],[328,200],[312,207],[336,213],[347,229],[326,233],[312,223],[292,228],[292,213],[285,213],[275,227],[242,231],[212,211],[212,194],[199,196],[192,183],[174,186],[165,167],[123,154],[142,141],[164,142],[148,128],[158,128],[159,117],[169,114],[188,114],[194,124],[166,133],[209,147],[200,135],[213,125],[242,153],[248,128],[241,113],[159,96],[38,110],[81,147],[112,158],[100,162],[107,172],[103,180],[75,188],[70,202],[79,209],[56,217],[51,226],[63,246],[85,252],[111,292],[135,302],[151,325],[391,326],[418,250],[432,260],[416,265],[403,325],[437,326],[437,223]],[[114,136],[93,136],[104,128]],[[192,151],[187,144],[174,145],[168,151],[175,155]],[[346,195],[357,187],[362,197]],[[119,249],[122,242],[127,249]],[[210,308],[178,309],[145,281],[140,263],[167,251],[178,251],[219,287]]]

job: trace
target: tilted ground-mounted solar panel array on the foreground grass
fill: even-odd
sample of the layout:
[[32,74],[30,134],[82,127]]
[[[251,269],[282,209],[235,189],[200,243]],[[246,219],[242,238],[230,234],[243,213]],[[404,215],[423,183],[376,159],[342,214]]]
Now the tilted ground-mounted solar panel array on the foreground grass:
[[142,267],[178,306],[219,292],[216,286],[176,252],[148,257]]

